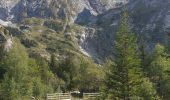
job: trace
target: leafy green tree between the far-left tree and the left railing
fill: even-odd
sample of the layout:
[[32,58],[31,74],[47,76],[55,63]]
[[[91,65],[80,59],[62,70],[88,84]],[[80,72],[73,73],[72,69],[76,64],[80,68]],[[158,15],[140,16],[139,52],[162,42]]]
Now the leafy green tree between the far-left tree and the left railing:
[[50,71],[48,63],[42,58],[30,59],[29,76],[32,77],[33,96],[45,98],[47,93],[55,91],[58,87],[58,80]]

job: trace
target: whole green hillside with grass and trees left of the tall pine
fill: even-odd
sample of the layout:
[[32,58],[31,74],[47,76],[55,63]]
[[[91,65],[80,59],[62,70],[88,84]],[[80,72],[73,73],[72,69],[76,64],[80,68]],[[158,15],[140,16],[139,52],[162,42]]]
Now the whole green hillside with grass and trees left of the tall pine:
[[[47,93],[99,91],[102,68],[79,50],[72,34],[72,30],[80,30],[78,26],[68,27],[70,34],[65,35],[62,21],[30,18],[20,25],[20,29],[1,29],[0,100],[29,100],[32,96],[43,100]],[[12,48],[6,51],[10,34]]]

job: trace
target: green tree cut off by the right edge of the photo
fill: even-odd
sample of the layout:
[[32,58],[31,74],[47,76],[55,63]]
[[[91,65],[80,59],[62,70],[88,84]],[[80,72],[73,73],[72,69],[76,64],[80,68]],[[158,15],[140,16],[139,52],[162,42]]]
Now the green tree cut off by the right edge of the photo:
[[155,84],[161,99],[170,99],[170,59],[165,48],[157,44],[152,55],[152,62],[148,73],[151,81]]

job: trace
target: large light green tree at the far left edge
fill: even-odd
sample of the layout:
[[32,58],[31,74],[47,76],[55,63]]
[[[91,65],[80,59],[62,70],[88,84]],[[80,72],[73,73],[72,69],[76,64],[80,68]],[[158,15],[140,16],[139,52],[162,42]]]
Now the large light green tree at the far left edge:
[[28,55],[17,41],[13,49],[1,60],[0,67],[6,70],[1,84],[4,100],[22,100],[31,97],[31,82],[28,74]]

